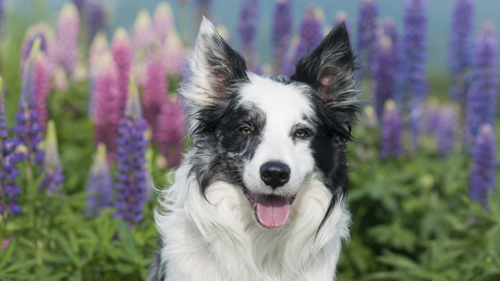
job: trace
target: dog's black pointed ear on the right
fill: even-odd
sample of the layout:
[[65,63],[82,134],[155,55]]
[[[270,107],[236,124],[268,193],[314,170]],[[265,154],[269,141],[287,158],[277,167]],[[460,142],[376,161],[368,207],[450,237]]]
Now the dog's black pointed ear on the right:
[[345,24],[340,23],[300,58],[290,79],[317,89],[327,108],[350,115],[358,110],[360,97],[354,71],[349,35]]

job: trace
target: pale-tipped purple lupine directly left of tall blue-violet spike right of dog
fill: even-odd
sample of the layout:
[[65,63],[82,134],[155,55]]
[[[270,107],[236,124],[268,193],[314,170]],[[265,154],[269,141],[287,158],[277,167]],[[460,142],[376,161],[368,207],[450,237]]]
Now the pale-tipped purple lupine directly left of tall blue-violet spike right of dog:
[[375,111],[380,119],[383,114],[383,106],[387,99],[395,98],[397,61],[394,57],[392,44],[389,36],[380,38],[375,63]]

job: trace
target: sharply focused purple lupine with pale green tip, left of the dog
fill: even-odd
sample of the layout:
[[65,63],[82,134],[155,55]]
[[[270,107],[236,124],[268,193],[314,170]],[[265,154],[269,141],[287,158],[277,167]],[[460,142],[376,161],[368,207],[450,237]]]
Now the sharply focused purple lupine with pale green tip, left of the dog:
[[119,122],[114,193],[116,216],[121,217],[129,226],[142,220],[146,196],[146,126],[137,89],[131,81],[125,112]]

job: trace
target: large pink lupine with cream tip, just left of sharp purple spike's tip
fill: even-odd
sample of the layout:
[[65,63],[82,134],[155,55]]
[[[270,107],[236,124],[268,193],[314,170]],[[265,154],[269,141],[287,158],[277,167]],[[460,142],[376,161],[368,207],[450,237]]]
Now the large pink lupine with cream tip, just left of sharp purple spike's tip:
[[109,164],[116,153],[119,111],[118,73],[111,53],[102,54],[95,78],[95,143],[104,143]]

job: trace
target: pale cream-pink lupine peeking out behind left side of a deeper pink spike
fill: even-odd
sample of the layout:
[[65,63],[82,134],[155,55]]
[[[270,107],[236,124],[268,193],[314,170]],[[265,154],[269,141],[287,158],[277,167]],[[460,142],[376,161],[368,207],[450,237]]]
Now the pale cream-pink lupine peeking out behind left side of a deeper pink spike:
[[[96,98],[95,98],[95,79],[98,73],[98,61],[103,54],[109,52],[109,43],[107,42],[107,37],[104,32],[97,32],[95,34],[92,43],[90,44],[90,50],[88,53],[88,71],[89,71],[89,87],[88,87],[88,115],[90,118],[95,118],[96,110]],[[128,79],[128,77],[127,77]]]

